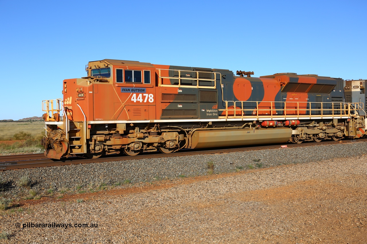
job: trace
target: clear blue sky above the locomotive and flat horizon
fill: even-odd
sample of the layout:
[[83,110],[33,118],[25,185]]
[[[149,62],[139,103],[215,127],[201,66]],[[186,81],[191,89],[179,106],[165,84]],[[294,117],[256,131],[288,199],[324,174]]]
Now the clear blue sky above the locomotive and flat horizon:
[[41,116],[88,61],[367,79],[367,1],[0,0],[0,119]]

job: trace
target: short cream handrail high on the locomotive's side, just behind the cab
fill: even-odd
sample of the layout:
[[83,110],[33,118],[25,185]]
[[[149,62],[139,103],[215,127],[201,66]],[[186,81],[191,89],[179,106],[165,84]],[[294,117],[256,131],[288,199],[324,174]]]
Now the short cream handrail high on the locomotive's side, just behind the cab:
[[[174,71],[174,72],[178,72],[178,77],[171,77],[169,76],[162,76],[162,72],[161,71]],[[219,77],[221,77],[221,73],[216,73],[216,72],[207,72],[207,71],[190,71],[190,70],[170,70],[170,69],[158,69],[158,72],[159,72],[159,81],[158,81],[158,86],[168,86],[168,87],[186,87],[186,88],[193,88],[193,87],[196,87],[196,88],[205,88],[205,89],[216,89],[217,88],[217,85],[215,83],[215,81],[217,80],[217,75],[219,75]],[[196,73],[196,78],[194,77],[181,77],[181,72],[183,73]],[[207,79],[207,78],[199,78],[199,73],[208,73],[208,74],[214,74],[214,79]],[[193,75],[192,75],[193,76]],[[175,85],[175,84],[163,84],[163,79],[174,79],[174,80],[178,80],[178,84]],[[181,81],[182,80],[196,80],[196,85],[182,85]],[[212,86],[208,86],[208,85],[200,85],[200,82],[203,82],[203,81],[210,81],[212,82],[212,84],[214,83],[214,85]],[[171,82],[170,82],[171,83]]]

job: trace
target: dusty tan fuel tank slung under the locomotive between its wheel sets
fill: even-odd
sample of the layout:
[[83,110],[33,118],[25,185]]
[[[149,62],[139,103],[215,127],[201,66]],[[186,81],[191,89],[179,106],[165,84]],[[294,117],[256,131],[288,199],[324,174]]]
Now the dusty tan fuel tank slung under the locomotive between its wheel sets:
[[191,137],[191,148],[232,147],[266,143],[285,143],[291,128],[198,130]]

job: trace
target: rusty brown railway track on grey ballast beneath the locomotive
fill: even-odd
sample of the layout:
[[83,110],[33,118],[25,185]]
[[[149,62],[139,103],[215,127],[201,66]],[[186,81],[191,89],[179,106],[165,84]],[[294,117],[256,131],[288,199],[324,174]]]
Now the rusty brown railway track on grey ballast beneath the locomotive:
[[8,155],[0,156],[0,170],[15,170],[15,169],[28,169],[34,167],[48,167],[48,166],[61,166],[70,164],[83,164],[83,163],[101,163],[101,162],[112,162],[120,160],[131,160],[131,159],[147,159],[147,158],[166,158],[175,156],[189,156],[199,154],[215,154],[224,152],[240,152],[240,151],[251,151],[261,149],[274,149],[281,147],[305,147],[312,145],[327,145],[327,144],[339,144],[339,143],[352,143],[356,141],[367,141],[367,139],[358,140],[341,140],[341,141],[322,141],[319,143],[309,142],[302,144],[275,144],[275,145],[261,145],[255,147],[240,147],[240,148],[225,148],[225,149],[208,149],[208,150],[182,150],[170,154],[162,154],[159,152],[141,154],[137,156],[105,156],[98,159],[85,159],[85,158],[68,158],[64,160],[48,159],[44,154],[22,154],[22,155]]

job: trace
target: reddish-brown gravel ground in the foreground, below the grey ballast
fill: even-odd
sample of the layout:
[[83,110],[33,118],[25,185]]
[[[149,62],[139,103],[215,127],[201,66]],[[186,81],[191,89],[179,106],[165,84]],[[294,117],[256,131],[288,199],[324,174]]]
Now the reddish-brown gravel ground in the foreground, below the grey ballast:
[[[361,155],[23,200],[22,212],[0,216],[0,232],[10,234],[4,243],[367,243],[366,159]],[[71,227],[22,228],[27,223]],[[98,227],[73,227],[78,223]]]

